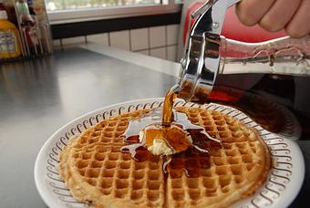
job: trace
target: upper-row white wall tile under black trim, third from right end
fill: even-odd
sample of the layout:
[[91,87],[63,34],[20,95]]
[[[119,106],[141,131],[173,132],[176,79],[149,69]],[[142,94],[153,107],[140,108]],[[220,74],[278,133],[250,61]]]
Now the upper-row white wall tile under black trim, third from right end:
[[131,50],[141,50],[149,47],[148,28],[130,30]]

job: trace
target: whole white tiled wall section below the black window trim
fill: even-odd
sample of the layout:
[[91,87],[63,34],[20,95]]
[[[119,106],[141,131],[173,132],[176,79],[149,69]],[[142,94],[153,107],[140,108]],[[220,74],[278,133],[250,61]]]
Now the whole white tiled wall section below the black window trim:
[[[87,36],[88,43],[102,47],[118,47],[137,51],[151,57],[160,57],[176,61],[179,25],[153,26],[132,30],[96,34]],[[85,36],[63,38],[63,47],[85,44]],[[60,40],[53,41],[54,47],[62,47]]]

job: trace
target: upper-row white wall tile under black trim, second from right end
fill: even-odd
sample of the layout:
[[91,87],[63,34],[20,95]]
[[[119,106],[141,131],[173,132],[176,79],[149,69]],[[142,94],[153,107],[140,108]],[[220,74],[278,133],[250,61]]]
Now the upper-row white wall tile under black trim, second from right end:
[[166,45],[165,26],[150,27],[150,47],[163,47]]

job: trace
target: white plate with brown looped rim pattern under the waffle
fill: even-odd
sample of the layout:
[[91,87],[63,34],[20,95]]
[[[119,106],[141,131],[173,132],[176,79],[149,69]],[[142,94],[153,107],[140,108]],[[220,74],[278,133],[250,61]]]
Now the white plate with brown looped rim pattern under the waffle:
[[[119,103],[103,109],[97,109],[72,120],[57,130],[44,144],[36,158],[35,181],[36,188],[42,199],[49,207],[88,207],[85,203],[77,202],[67,190],[57,171],[58,154],[67,145],[69,138],[79,135],[83,130],[95,125],[100,120],[116,116],[120,113],[135,109],[159,107],[163,99],[141,99]],[[177,105],[184,104],[181,100]],[[259,131],[263,140],[269,146],[273,157],[273,168],[266,182],[254,195],[245,198],[232,207],[287,207],[293,202],[299,192],[305,177],[305,161],[297,144],[283,136],[263,130],[257,123],[248,118],[243,112],[218,104],[205,105],[202,108],[215,109],[229,114],[245,125]]]

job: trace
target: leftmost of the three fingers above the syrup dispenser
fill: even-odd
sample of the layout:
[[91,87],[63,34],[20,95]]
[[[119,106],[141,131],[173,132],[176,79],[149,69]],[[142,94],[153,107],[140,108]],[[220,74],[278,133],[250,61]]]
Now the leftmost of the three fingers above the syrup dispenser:
[[246,26],[253,26],[274,4],[274,0],[242,0],[236,5],[236,14]]

